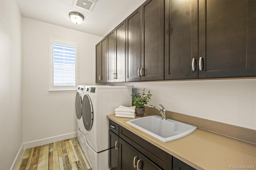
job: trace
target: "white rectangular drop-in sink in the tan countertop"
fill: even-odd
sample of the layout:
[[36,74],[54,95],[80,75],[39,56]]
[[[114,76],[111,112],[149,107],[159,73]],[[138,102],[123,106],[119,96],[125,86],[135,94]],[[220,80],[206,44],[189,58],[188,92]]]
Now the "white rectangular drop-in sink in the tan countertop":
[[147,134],[161,140],[169,142],[187,136],[196,130],[196,126],[174,121],[172,119],[162,120],[160,116],[147,116],[131,121],[127,121],[129,125],[139,128]]

